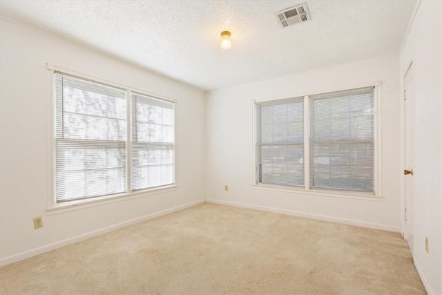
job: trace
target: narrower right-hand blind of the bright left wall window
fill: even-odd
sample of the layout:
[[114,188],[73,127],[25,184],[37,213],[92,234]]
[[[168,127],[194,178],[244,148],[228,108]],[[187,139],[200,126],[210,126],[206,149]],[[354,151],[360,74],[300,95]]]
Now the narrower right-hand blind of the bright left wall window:
[[173,184],[173,102],[132,93],[132,190]]

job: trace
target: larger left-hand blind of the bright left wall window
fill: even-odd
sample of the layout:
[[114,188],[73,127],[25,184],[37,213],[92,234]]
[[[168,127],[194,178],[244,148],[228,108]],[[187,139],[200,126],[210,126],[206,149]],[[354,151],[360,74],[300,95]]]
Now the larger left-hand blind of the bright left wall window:
[[126,191],[126,92],[55,73],[56,200]]

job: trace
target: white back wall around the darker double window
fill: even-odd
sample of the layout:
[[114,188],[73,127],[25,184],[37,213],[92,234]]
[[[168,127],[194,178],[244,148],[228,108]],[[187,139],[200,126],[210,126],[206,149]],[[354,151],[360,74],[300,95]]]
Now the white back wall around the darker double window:
[[[206,198],[211,202],[400,231],[398,77],[398,56],[387,56],[207,93]],[[382,83],[381,200],[316,196],[252,186],[253,99],[344,90],[376,81]],[[224,184],[229,185],[229,191],[224,191]]]

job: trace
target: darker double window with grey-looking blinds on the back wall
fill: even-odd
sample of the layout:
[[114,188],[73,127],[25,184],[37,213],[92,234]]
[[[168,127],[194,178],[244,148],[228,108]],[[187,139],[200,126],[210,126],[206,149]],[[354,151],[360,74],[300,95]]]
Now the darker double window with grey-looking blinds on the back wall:
[[259,102],[256,112],[258,183],[374,193],[374,87]]

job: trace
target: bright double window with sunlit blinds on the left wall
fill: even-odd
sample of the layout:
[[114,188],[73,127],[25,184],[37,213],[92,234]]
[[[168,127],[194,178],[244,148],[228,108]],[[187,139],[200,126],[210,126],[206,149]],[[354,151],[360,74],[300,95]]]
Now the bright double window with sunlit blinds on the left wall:
[[173,184],[173,102],[127,93],[55,73],[57,203]]

